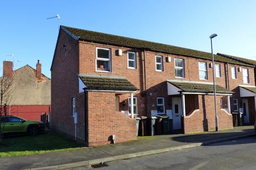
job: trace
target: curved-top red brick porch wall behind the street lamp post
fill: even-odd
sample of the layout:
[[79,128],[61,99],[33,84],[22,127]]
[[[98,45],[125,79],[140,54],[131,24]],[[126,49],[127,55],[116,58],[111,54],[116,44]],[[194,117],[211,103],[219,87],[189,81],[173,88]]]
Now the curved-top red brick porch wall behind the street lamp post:
[[[232,115],[220,108],[220,98],[217,96],[217,111],[218,111],[218,128],[232,129]],[[186,96],[185,96],[186,98]],[[192,111],[184,118],[184,132],[205,132],[215,131],[215,103],[213,95],[198,95],[199,109]]]

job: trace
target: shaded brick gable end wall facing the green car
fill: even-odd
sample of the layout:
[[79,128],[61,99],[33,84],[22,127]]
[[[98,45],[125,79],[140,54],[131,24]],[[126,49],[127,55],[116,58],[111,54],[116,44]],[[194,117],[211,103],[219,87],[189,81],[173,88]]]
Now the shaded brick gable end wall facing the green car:
[[71,117],[71,98],[78,94],[77,74],[78,42],[61,30],[51,69],[51,121],[53,130],[73,137],[75,126]]

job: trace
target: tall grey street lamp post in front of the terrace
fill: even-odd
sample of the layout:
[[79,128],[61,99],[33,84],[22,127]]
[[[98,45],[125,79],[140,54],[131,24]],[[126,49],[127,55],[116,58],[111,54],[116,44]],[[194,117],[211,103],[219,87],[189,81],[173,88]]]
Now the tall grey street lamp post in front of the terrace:
[[[212,39],[218,35],[214,33],[210,36],[211,39],[211,49],[212,49]],[[216,84],[215,84],[215,65],[214,65],[214,56],[212,50],[212,70],[213,70],[213,92],[214,92],[214,102],[215,102],[215,130],[218,131],[218,114],[217,114],[217,98],[216,98]]]

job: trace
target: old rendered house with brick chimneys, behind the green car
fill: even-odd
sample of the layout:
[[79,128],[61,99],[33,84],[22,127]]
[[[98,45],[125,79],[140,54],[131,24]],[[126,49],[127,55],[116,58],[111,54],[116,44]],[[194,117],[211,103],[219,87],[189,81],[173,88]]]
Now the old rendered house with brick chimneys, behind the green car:
[[[30,121],[41,121],[41,115],[51,111],[51,79],[41,72],[42,64],[37,61],[36,69],[29,65],[13,70],[13,62],[3,62],[3,77],[11,78],[11,95],[3,114],[15,115]],[[5,113],[4,113],[5,112]]]

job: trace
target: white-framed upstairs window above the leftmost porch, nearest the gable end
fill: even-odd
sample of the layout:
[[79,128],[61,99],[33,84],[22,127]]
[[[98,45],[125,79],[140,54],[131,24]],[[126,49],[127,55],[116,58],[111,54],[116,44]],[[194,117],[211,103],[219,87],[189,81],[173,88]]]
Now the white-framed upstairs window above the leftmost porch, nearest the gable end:
[[96,71],[111,72],[111,50],[96,47]]

